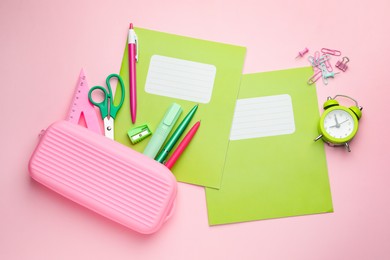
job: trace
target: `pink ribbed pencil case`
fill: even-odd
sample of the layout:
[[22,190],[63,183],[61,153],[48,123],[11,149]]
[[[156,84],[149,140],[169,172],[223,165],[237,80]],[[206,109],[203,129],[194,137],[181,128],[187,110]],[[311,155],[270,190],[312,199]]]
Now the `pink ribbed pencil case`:
[[59,121],[29,162],[33,179],[142,234],[170,217],[177,182],[164,165],[88,129]]

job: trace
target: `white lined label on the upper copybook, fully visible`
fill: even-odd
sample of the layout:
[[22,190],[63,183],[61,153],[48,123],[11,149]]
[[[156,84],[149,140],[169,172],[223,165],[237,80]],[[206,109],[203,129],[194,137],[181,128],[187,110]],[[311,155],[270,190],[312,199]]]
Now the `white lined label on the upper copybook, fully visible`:
[[216,71],[214,65],[153,55],[145,91],[150,94],[209,103]]

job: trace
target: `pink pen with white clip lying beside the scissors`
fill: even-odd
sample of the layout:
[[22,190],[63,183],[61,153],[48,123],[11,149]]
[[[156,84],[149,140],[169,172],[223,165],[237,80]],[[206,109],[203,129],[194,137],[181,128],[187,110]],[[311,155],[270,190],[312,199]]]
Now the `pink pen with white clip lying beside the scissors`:
[[138,38],[130,23],[128,36],[128,56],[129,56],[129,88],[130,88],[130,114],[131,121],[135,123],[137,115],[137,81],[135,73],[135,63],[138,62]]

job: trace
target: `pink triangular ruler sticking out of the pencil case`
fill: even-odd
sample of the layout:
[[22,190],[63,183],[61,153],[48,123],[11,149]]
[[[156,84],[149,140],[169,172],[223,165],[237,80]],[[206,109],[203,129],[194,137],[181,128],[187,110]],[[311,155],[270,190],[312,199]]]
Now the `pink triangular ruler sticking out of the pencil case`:
[[84,70],[81,69],[76,90],[73,95],[73,100],[69,108],[67,120],[74,124],[78,124],[81,114],[83,114],[87,128],[98,134],[102,134],[95,107],[88,99],[88,91],[88,82],[85,77]]

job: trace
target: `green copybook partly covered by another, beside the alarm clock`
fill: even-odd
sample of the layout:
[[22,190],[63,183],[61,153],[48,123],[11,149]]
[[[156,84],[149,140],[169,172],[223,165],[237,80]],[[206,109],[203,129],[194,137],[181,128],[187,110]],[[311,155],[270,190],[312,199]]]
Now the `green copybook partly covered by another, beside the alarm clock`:
[[243,75],[210,225],[332,212],[311,68]]

